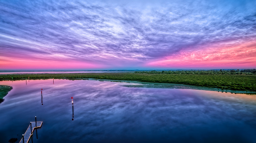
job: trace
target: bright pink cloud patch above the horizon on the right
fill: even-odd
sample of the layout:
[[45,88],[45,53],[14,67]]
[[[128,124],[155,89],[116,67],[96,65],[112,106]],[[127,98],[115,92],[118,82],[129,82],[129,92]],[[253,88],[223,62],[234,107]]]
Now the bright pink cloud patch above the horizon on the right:
[[155,68],[182,69],[255,69],[256,43],[214,44],[179,53],[147,63]]

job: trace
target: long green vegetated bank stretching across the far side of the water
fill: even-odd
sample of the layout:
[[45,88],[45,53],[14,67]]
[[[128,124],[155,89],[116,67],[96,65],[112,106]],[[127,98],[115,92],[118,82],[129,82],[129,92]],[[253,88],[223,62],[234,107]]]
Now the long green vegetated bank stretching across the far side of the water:
[[85,74],[8,74],[0,80],[47,78],[96,78],[105,80],[140,80],[146,82],[176,83],[219,89],[256,91],[256,75],[244,74],[145,74],[145,73],[85,73]]

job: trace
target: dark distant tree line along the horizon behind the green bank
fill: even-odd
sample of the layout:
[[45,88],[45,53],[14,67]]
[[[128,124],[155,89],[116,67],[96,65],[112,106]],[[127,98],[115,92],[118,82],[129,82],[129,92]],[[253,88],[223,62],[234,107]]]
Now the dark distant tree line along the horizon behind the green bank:
[[135,73],[141,74],[256,74],[256,69],[243,69],[243,70],[163,70],[163,71],[136,71]]

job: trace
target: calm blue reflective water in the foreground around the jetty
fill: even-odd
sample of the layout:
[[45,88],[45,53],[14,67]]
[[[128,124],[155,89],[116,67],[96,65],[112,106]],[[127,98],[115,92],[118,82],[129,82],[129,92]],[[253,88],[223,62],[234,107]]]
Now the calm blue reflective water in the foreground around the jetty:
[[256,143],[256,95],[131,84],[0,81],[13,86],[0,104],[0,142],[19,141],[37,116],[33,143]]

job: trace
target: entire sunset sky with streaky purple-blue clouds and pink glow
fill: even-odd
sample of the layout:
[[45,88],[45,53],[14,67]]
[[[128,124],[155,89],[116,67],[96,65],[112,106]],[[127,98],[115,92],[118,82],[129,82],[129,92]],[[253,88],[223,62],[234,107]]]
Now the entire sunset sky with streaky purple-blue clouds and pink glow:
[[0,0],[0,70],[256,69],[256,0]]

